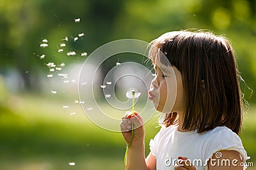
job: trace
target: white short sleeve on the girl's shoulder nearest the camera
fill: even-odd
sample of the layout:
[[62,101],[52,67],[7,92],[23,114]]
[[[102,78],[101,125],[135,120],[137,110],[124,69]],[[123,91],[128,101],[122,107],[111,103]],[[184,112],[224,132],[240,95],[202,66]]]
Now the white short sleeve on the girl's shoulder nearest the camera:
[[[221,150],[235,150],[240,153],[242,162],[250,159],[244,150],[243,144],[239,136],[227,127],[218,127],[218,131],[213,132],[209,136],[209,142],[205,147],[205,160],[211,159],[212,155]],[[216,157],[221,157],[216,154]],[[246,167],[244,167],[246,169]]]

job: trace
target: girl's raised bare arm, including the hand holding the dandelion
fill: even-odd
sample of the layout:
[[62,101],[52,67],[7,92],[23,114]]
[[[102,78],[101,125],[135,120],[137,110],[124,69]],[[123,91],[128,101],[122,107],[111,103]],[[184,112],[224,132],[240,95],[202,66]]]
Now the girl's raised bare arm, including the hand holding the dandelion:
[[131,145],[127,152],[127,166],[126,169],[132,170],[155,170],[156,169],[156,159],[150,154],[147,157],[147,163],[145,160],[145,131],[143,127],[143,120],[141,116],[134,112],[127,114],[122,117],[122,122],[120,124],[122,134],[127,143],[127,147],[131,138],[131,127],[134,124],[134,134],[131,141]]

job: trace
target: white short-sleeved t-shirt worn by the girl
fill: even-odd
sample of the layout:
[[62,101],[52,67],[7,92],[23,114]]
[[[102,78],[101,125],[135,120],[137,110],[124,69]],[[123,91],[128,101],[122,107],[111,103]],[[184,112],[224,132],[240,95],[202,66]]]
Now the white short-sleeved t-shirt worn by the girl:
[[[224,126],[202,133],[179,132],[177,126],[162,127],[149,145],[152,155],[156,157],[157,170],[174,169],[179,156],[188,157],[196,170],[207,169],[207,160],[214,153],[220,158],[222,156],[218,152],[220,150],[236,150],[241,154],[243,162],[250,159],[239,136]],[[234,163],[236,164],[236,161]],[[228,162],[220,162],[218,159],[212,160],[211,164],[228,166]],[[231,161],[230,165],[232,165]]]

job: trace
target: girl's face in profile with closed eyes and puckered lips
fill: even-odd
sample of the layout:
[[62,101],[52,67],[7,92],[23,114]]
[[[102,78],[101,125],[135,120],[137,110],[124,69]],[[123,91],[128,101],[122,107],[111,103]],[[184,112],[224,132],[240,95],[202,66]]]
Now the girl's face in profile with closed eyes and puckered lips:
[[177,67],[165,66],[161,62],[154,64],[156,76],[148,91],[157,111],[162,113],[184,111],[182,76]]

